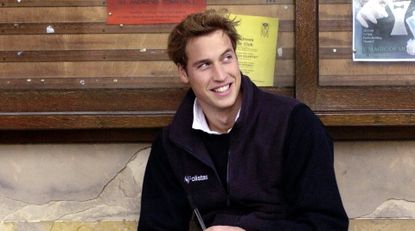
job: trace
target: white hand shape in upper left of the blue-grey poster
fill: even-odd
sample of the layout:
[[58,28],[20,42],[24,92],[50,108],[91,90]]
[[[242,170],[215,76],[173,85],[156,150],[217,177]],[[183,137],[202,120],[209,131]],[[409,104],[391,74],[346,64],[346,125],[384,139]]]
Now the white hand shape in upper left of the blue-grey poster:
[[370,21],[374,24],[377,24],[377,19],[388,17],[388,12],[386,12],[386,5],[388,0],[369,0],[357,13],[356,19],[359,23],[368,28],[369,24],[367,21]]

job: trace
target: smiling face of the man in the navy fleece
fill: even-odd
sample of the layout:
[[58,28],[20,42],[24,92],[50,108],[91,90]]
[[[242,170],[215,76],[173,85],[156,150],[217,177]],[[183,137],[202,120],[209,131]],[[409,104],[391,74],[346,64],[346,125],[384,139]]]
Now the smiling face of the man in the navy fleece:
[[186,54],[180,79],[190,84],[205,113],[239,108],[241,73],[229,37],[222,30],[195,37],[188,41]]

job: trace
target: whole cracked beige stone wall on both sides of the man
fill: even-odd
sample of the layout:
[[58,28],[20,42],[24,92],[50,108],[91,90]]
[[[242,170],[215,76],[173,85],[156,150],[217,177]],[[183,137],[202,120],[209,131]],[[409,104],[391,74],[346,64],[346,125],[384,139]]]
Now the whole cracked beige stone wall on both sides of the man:
[[[2,145],[0,230],[135,230],[149,144]],[[415,230],[415,142],[336,142],[350,231]]]

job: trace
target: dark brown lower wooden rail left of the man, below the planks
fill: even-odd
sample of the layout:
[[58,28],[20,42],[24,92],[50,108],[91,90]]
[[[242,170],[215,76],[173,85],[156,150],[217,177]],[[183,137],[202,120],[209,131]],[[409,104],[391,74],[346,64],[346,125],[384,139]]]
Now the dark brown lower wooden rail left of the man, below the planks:
[[166,125],[184,88],[2,90],[3,130],[154,128]]

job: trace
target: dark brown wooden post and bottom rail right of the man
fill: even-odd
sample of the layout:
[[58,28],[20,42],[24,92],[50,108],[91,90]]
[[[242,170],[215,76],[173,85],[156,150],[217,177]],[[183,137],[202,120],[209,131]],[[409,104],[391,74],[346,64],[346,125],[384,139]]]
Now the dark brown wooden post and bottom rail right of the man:
[[413,86],[320,86],[319,2],[296,5],[296,97],[327,126],[415,126]]

